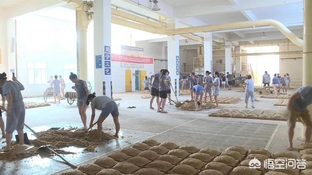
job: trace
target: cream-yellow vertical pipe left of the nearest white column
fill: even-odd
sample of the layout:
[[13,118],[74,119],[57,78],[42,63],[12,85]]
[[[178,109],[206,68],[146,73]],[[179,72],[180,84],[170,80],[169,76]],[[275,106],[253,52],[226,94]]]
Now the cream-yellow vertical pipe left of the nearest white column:
[[87,29],[90,21],[80,6],[76,8],[77,74],[84,81],[88,81]]

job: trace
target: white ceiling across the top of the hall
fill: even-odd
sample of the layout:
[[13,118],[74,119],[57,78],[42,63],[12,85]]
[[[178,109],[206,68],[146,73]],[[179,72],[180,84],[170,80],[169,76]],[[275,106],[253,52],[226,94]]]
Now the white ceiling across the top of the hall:
[[[53,1],[53,2],[52,2]],[[112,0],[112,4],[136,11],[137,13],[158,19],[178,18],[181,23],[188,26],[214,25],[237,21],[275,19],[289,27],[297,36],[302,36],[303,0],[158,0],[160,11],[151,11],[153,3],[149,0]],[[48,3],[50,2],[50,3]],[[0,0],[0,9],[6,11],[19,11],[21,4],[26,8],[32,6],[48,7],[60,0]],[[64,5],[64,4],[63,4]],[[58,11],[68,13],[66,17],[58,16]],[[39,12],[39,15],[71,20],[73,13],[66,9],[54,9],[49,12]],[[186,27],[180,25],[180,27]],[[268,33],[265,39],[273,39],[280,33],[273,27],[242,29],[239,31],[226,31],[214,33],[216,38],[229,40],[257,39],[263,32]],[[270,35],[269,35],[270,34]],[[281,35],[283,37],[283,35]],[[259,38],[261,39],[261,37]]]

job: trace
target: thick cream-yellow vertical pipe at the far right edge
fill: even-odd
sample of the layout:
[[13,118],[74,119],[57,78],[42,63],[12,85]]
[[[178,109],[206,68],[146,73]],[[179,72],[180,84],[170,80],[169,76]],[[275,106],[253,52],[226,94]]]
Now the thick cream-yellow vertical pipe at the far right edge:
[[303,24],[302,84],[312,86],[312,0],[303,0]]

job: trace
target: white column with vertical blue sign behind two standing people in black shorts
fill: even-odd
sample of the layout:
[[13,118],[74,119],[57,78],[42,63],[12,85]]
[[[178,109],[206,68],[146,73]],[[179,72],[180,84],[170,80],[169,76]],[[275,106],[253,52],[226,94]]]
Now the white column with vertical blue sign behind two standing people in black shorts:
[[[168,27],[178,28],[178,19],[168,20]],[[168,70],[170,72],[172,87],[179,95],[179,77],[180,77],[180,55],[179,55],[179,35],[168,36]]]

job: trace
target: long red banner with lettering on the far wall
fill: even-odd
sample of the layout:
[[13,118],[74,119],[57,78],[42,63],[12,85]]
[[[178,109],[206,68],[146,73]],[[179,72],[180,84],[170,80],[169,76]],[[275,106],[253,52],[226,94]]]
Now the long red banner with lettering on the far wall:
[[153,57],[136,57],[136,56],[126,56],[120,54],[112,53],[112,61],[114,62],[124,62],[124,63],[141,63],[141,64],[153,64]]

